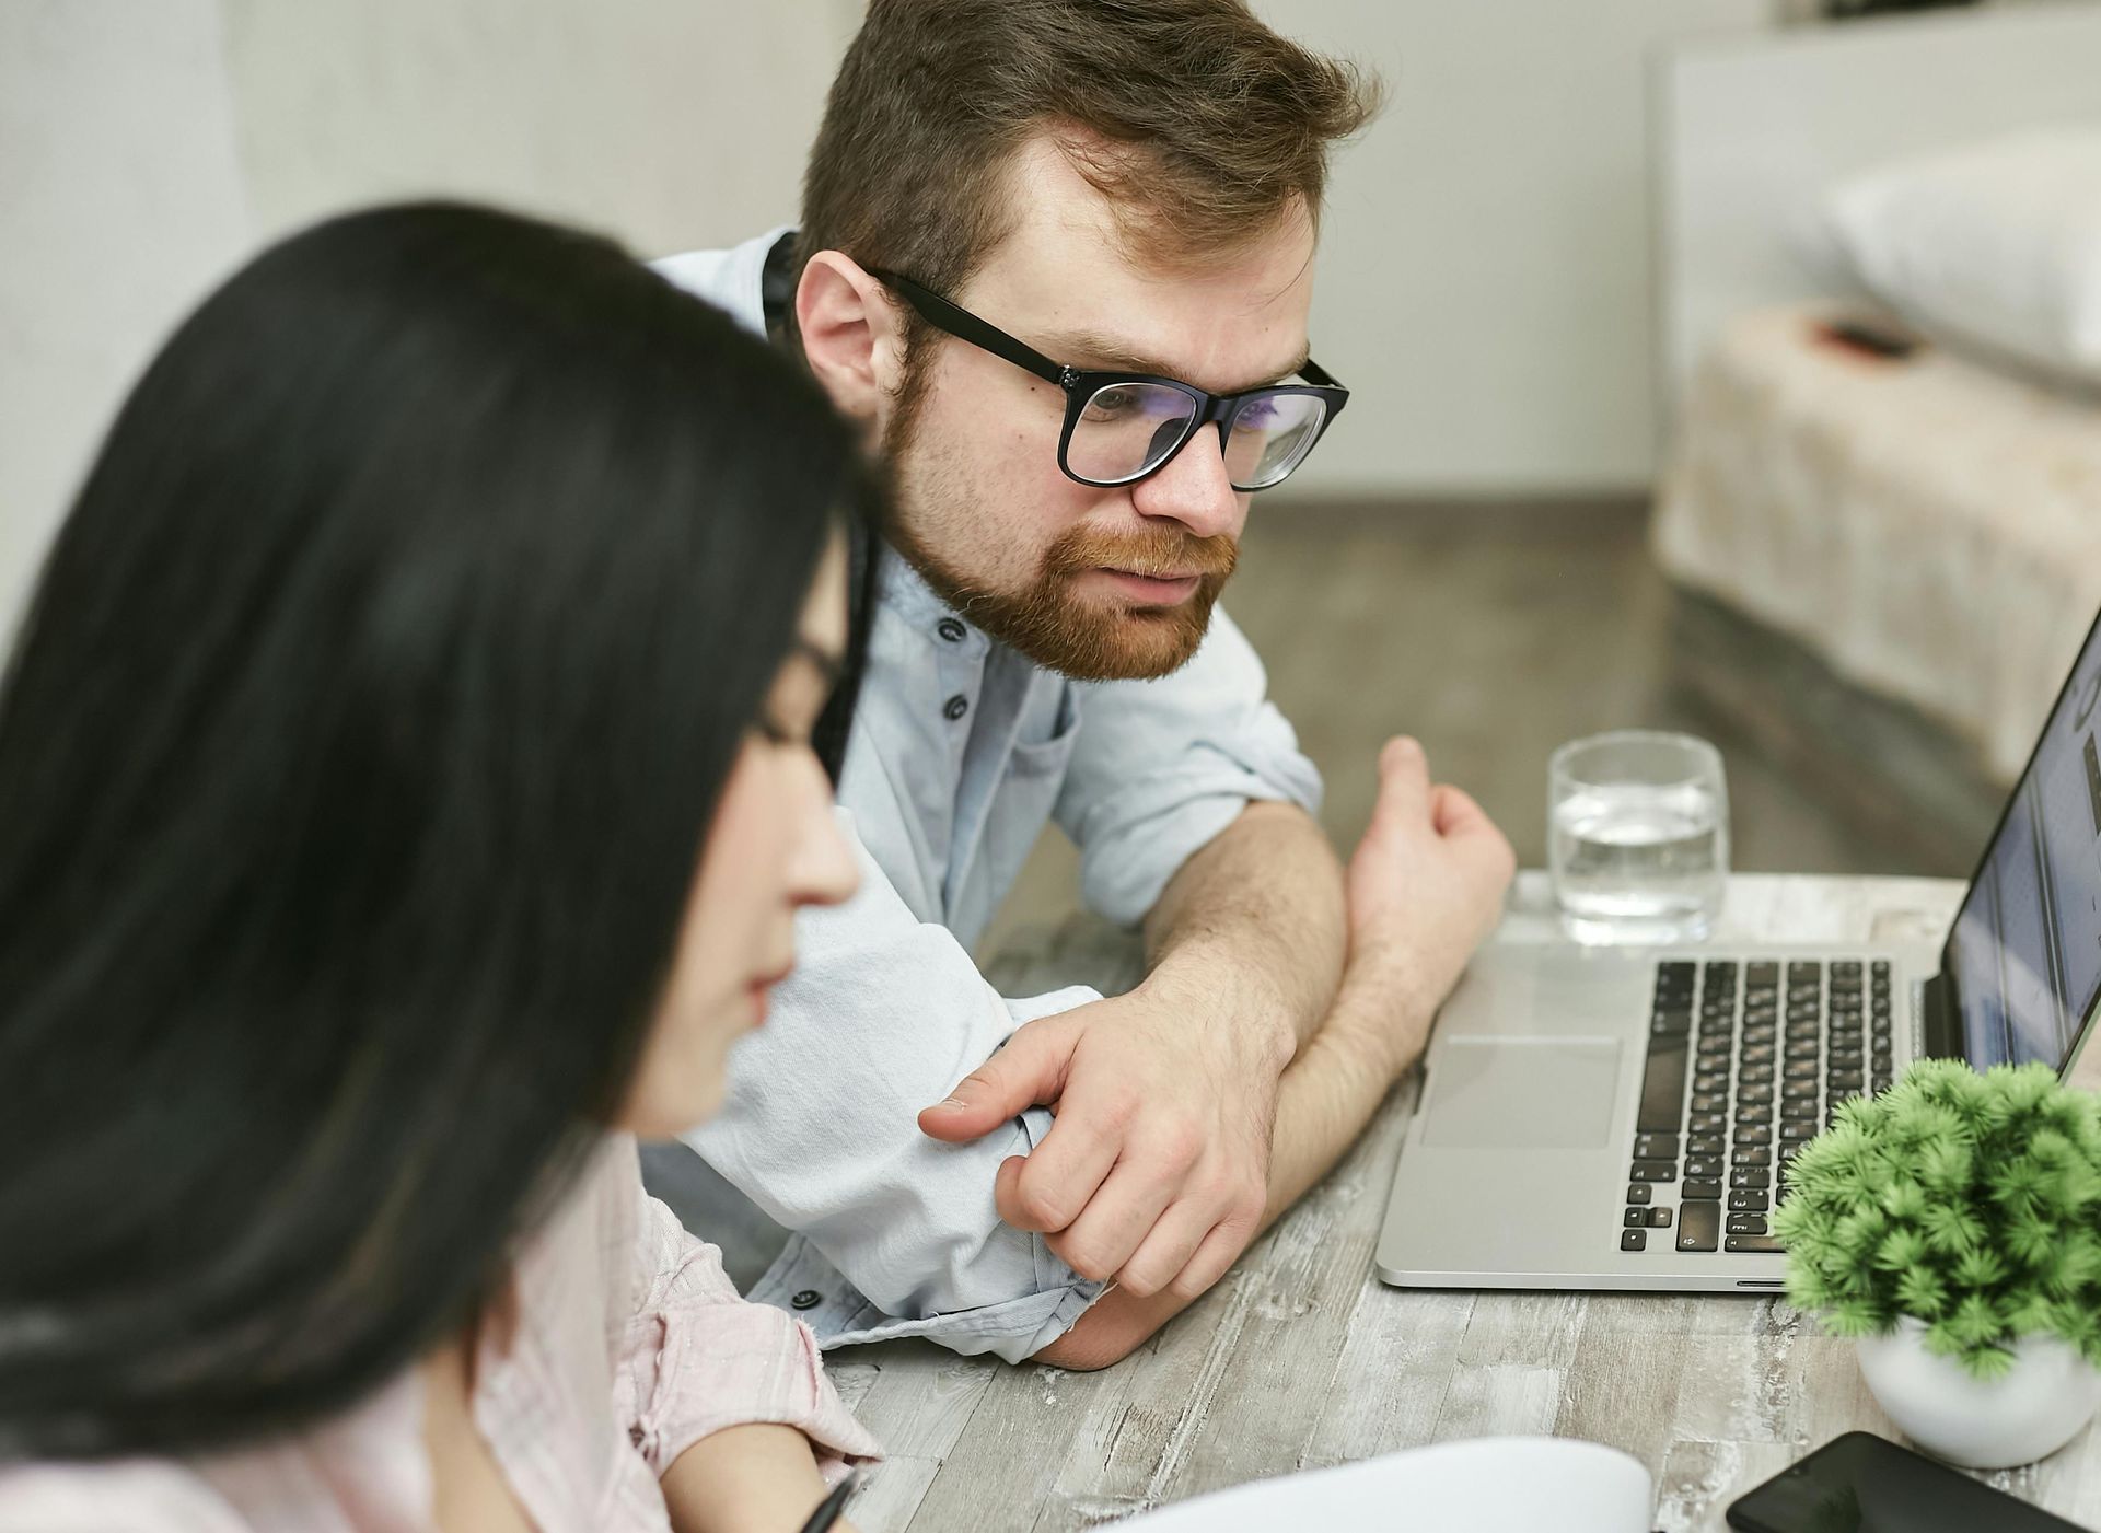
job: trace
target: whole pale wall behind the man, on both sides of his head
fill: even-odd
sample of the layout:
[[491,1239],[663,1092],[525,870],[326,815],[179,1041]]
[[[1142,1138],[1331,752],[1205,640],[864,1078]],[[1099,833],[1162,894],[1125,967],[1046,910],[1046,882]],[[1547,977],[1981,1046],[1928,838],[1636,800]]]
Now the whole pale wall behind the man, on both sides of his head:
[[[1336,172],[1332,494],[1649,477],[1643,71],[1775,0],[1256,0],[1391,86]],[[0,0],[0,622],[122,386],[242,252],[464,193],[643,252],[792,216],[857,0]]]

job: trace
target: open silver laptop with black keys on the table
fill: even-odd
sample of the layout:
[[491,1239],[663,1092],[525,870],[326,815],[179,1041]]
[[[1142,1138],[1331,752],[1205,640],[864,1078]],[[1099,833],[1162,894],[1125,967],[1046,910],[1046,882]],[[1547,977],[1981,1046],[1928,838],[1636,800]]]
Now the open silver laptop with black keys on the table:
[[1914,1058],[2063,1073],[2101,1012],[2101,620],[1931,947],[1485,949],[1424,1056],[1403,1287],[1777,1289],[1794,1151]]

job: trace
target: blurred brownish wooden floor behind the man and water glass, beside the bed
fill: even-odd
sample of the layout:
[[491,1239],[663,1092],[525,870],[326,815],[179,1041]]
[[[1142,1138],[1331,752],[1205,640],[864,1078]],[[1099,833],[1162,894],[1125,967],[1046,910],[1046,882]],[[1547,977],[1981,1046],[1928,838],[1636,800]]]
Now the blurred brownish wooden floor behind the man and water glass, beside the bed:
[[[1553,748],[1647,727],[1721,748],[1738,869],[1969,876],[1946,836],[1891,834],[1887,817],[1817,796],[1750,729],[1681,687],[1672,601],[1630,502],[1479,512],[1258,502],[1225,594],[1328,779],[1322,823],[1345,853],[1389,735],[1416,735],[1431,771],[1479,798],[1519,863],[1538,867]],[[1048,832],[981,951],[1076,909],[1074,869]]]

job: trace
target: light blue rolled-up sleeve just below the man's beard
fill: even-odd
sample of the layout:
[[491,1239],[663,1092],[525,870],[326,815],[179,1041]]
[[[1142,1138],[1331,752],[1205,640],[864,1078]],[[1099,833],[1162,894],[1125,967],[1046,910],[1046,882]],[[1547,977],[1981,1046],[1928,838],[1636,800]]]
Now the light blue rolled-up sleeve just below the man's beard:
[[1122,926],[1145,920],[1250,800],[1319,808],[1319,771],[1267,693],[1261,657],[1223,607],[1172,676],[1086,689],[1055,815],[1080,848],[1093,909]]

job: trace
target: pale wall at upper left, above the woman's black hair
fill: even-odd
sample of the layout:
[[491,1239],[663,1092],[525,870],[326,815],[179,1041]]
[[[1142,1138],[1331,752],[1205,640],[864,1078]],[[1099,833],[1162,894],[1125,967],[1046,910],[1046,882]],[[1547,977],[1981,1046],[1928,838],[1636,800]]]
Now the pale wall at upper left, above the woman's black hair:
[[857,19],[855,0],[0,0],[0,632],[124,388],[258,244],[416,193],[645,254],[784,223]]

